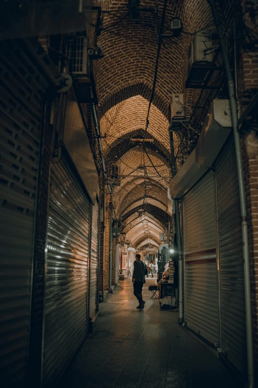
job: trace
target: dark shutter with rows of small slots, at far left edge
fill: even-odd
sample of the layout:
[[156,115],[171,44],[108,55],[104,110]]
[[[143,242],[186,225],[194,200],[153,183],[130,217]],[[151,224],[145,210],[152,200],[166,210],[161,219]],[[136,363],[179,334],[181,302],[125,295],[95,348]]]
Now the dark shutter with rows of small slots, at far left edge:
[[24,387],[43,95],[48,84],[12,41],[0,45],[0,376]]

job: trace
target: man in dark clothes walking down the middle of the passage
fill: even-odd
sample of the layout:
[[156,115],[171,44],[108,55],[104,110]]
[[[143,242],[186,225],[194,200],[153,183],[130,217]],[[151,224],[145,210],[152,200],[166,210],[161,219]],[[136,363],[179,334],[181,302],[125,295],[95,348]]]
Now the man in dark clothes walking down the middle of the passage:
[[142,299],[142,287],[145,283],[145,275],[147,275],[147,268],[145,264],[141,261],[141,256],[139,254],[135,255],[135,261],[133,262],[133,294],[139,301],[139,306],[137,309],[143,309],[145,301]]

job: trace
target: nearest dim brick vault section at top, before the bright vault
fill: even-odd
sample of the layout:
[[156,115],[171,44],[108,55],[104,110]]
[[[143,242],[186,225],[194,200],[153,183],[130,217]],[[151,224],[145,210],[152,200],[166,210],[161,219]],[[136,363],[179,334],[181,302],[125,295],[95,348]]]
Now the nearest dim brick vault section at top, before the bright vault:
[[[103,9],[127,13],[127,0],[94,1]],[[155,7],[156,0],[144,0],[144,6]],[[161,21],[163,4],[159,3],[158,24]],[[211,10],[207,0],[168,1],[165,33],[170,33],[170,20],[173,16],[182,19],[184,30],[194,32],[211,21]],[[114,17],[105,14],[104,26],[112,25]],[[94,72],[100,105],[111,106],[113,94],[119,94],[131,85],[143,84],[151,88],[157,52],[155,21],[150,13],[141,13],[139,20],[125,19],[110,32],[103,32],[99,41],[103,47],[104,58],[94,63]],[[186,72],[185,53],[190,37],[166,41],[166,49],[160,54],[160,69],[156,95],[163,96],[159,109],[165,114],[172,92],[183,92]],[[120,101],[122,97],[116,97]],[[109,103],[108,103],[109,101]],[[114,103],[114,102],[113,102]],[[158,105],[157,105],[158,106]]]

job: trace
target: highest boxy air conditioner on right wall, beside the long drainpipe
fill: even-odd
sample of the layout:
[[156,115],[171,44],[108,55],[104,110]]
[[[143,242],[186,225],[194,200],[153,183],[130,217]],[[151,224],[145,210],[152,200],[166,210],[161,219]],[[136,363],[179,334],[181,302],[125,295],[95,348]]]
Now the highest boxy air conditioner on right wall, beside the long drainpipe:
[[203,30],[193,36],[188,52],[188,82],[202,84],[207,75],[207,66],[213,61],[212,30]]

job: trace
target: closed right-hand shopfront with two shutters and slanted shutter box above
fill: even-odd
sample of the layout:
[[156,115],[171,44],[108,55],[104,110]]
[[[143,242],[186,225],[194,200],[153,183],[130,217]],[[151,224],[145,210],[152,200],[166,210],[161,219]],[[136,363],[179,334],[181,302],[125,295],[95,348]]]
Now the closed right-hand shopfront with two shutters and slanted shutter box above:
[[201,133],[196,149],[173,179],[171,193],[173,198],[181,198],[184,323],[245,374],[238,174],[234,140],[229,135],[230,113],[220,114],[229,111],[228,102],[220,100],[219,104],[223,109],[216,115],[213,108],[210,126],[205,128],[205,135]]

